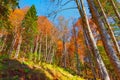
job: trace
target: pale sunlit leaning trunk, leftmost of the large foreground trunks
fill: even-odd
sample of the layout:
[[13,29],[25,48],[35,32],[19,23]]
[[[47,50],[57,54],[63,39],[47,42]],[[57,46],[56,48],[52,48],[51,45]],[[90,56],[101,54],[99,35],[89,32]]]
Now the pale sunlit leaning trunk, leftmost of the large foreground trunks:
[[[76,0],[76,3],[79,3],[78,0]],[[77,4],[77,5],[79,5],[79,4]],[[81,9],[82,13],[80,13],[80,14],[81,14],[81,16],[83,16],[83,18],[85,20],[84,22],[86,24],[86,27],[85,26],[84,27],[87,30],[88,37],[89,37],[90,42],[92,44],[93,52],[95,54],[95,57],[96,57],[96,60],[97,60],[97,63],[98,63],[98,67],[100,69],[102,79],[110,80],[108,72],[107,72],[107,69],[106,69],[106,67],[105,67],[105,65],[104,65],[104,63],[102,61],[102,58],[101,58],[100,53],[99,53],[99,50],[98,50],[97,45],[95,43],[95,39],[94,39],[92,31],[90,29],[90,25],[89,25],[89,22],[88,22],[88,18],[86,16],[86,12],[85,12],[85,8],[84,8],[84,4],[83,4],[82,0],[80,0],[80,5],[81,5],[82,8],[80,6],[78,6],[79,13],[80,13],[80,9]]]

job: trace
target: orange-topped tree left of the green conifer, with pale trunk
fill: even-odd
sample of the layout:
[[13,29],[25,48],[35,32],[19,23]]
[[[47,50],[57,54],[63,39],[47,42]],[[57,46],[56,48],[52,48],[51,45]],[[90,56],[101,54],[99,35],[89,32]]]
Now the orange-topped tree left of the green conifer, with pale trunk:
[[11,54],[13,50],[15,51],[15,57],[17,58],[19,51],[20,51],[20,46],[22,43],[22,20],[24,18],[25,13],[21,9],[16,9],[14,12],[11,12],[9,16],[9,20],[12,24],[12,35],[13,35],[13,40],[11,44],[11,48],[9,53]]

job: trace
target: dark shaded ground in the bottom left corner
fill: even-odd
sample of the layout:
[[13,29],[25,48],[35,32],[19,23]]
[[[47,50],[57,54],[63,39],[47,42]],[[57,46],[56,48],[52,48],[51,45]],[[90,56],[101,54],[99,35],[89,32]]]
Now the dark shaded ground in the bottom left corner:
[[0,61],[0,80],[49,80],[41,70],[12,59]]

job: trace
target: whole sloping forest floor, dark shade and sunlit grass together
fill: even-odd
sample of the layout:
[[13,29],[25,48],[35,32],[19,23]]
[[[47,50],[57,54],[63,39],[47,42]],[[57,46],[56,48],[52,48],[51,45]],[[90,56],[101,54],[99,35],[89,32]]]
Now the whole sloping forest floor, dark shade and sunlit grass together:
[[84,80],[63,68],[47,63],[0,56],[0,80]]

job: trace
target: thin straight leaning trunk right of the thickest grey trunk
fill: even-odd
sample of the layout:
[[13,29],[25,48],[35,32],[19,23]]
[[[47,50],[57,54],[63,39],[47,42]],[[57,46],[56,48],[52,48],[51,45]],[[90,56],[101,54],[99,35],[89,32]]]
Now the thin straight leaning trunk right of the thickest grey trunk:
[[105,23],[106,23],[107,26],[108,26],[108,30],[109,30],[110,36],[111,36],[111,38],[112,38],[112,41],[113,41],[113,43],[114,43],[115,49],[116,49],[116,51],[118,52],[118,54],[120,54],[119,45],[118,45],[117,40],[116,40],[116,38],[115,38],[115,35],[114,35],[113,31],[112,31],[112,28],[111,28],[111,26],[110,26],[110,24],[109,24],[109,22],[108,22],[108,20],[107,20],[107,16],[106,16],[106,14],[105,14],[105,11],[104,11],[104,9],[103,9],[100,1],[97,0],[97,2],[98,2],[98,5],[100,6],[100,9],[101,9],[101,11],[102,11],[102,14],[103,14]]

